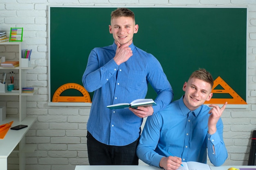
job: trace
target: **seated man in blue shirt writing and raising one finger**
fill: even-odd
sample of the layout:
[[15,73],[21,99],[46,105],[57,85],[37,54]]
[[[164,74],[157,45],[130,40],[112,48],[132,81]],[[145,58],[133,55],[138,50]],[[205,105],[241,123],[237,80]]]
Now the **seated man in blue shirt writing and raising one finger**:
[[221,166],[227,159],[227,149],[220,116],[227,102],[222,108],[203,105],[211,99],[212,87],[213,77],[209,72],[205,69],[193,72],[183,85],[185,94],[147,118],[137,147],[139,159],[175,170],[182,161],[207,163],[208,149],[211,163]]

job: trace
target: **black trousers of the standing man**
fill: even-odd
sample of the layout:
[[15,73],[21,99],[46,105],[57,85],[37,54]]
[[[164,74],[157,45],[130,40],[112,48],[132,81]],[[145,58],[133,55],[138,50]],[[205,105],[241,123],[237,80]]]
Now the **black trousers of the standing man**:
[[138,165],[136,148],[139,138],[126,146],[111,146],[97,141],[87,131],[87,148],[90,165]]

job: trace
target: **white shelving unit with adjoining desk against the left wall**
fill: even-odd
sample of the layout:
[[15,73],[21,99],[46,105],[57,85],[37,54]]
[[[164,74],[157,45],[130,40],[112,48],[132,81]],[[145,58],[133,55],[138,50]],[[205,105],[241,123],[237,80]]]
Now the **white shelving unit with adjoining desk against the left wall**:
[[[16,54],[16,61],[19,61],[21,65],[21,50],[27,49],[27,47],[22,47],[25,45],[24,42],[2,42],[0,46],[10,46],[9,48],[18,48],[18,53]],[[16,51],[16,50],[14,50]],[[9,59],[5,59],[8,61]],[[29,65],[29,67],[15,67],[15,68],[7,68],[7,67],[0,67],[0,72],[10,72],[15,71],[16,79],[14,83],[17,83],[17,87],[20,89],[19,92],[5,92],[0,93],[0,101],[4,101],[6,96],[17,96],[18,98],[18,115],[16,117],[7,117],[6,120],[0,122],[1,124],[5,124],[8,122],[14,121],[12,126],[16,126],[18,124],[26,124],[28,125],[27,128],[20,129],[18,131],[9,129],[7,135],[4,139],[0,139],[0,169],[7,170],[7,157],[10,155],[11,152],[19,153],[19,169],[25,170],[26,165],[26,152],[34,152],[36,146],[35,145],[27,145],[25,140],[25,134],[31,127],[31,125],[35,122],[36,118],[28,118],[27,117],[27,96],[33,96],[36,91],[33,93],[22,93],[22,87],[27,87],[27,70],[32,70],[37,65]],[[8,77],[8,76],[7,76]],[[7,79],[7,81],[10,81]],[[6,101],[8,105],[8,101]],[[8,115],[7,115],[8,116]],[[15,149],[15,150],[14,150]]]

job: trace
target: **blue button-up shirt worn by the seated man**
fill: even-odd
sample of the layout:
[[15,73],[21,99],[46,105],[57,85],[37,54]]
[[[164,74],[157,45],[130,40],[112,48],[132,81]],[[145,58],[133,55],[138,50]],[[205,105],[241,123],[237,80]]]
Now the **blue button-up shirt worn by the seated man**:
[[[210,108],[202,105],[190,111],[183,96],[163,111],[149,116],[141,134],[137,155],[142,161],[159,167],[162,157],[181,157],[183,162],[207,163],[208,156],[214,166],[221,166],[227,159],[223,141],[223,123],[217,123],[217,131],[208,133]],[[214,146],[214,150],[213,150]]]

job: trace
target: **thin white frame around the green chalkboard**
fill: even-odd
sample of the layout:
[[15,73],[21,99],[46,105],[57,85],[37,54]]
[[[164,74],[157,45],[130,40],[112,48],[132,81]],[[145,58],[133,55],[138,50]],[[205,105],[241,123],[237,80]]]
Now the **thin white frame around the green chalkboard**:
[[[51,76],[51,48],[50,48],[50,46],[51,46],[51,9],[52,8],[65,8],[65,9],[67,9],[67,8],[99,8],[99,9],[101,9],[101,8],[107,8],[107,9],[111,9],[111,8],[113,8],[113,9],[116,9],[117,7],[113,7],[113,6],[104,6],[104,7],[99,7],[99,6],[48,6],[48,14],[49,14],[49,20],[48,20],[48,49],[49,49],[49,58],[48,58],[48,73],[49,73],[49,105],[56,105],[56,106],[90,106],[91,105],[91,103],[77,103],[77,102],[52,102],[52,96],[53,96],[53,92],[51,92],[51,81],[52,81],[52,76]],[[247,30],[247,28],[248,28],[248,9],[247,9],[247,7],[226,7],[226,6],[223,6],[223,7],[208,7],[208,6],[204,6],[204,7],[198,7],[198,6],[196,6],[196,7],[156,7],[156,6],[154,6],[154,7],[152,7],[152,6],[145,6],[145,7],[127,7],[127,8],[130,8],[130,9],[137,9],[137,8],[148,8],[148,9],[153,9],[153,8],[164,8],[164,9],[177,9],[177,8],[182,8],[182,9],[239,9],[239,8],[241,8],[241,9],[245,9],[245,11],[246,11],[246,37],[245,37],[245,44],[246,45],[244,45],[245,46],[245,56],[243,56],[243,57],[245,57],[246,58],[246,61],[245,61],[245,68],[243,69],[243,71],[245,72],[245,81],[243,81],[244,82],[244,86],[245,86],[245,92],[243,92],[244,94],[244,96],[245,97],[243,97],[243,99],[245,100],[245,101],[247,101],[247,93],[248,93],[248,85],[247,85],[247,63],[248,63],[248,59],[247,59],[247,56],[248,56],[248,52],[247,52],[247,37],[248,37],[248,30]],[[110,13],[108,13],[108,14],[106,14],[106,15],[109,15],[109,18],[110,18]],[[136,14],[136,12],[135,12],[135,17],[136,17],[136,22],[137,22],[137,14]],[[109,19],[109,22],[110,22],[110,19]],[[137,24],[139,24],[138,22],[137,22]],[[104,25],[106,28],[108,27],[108,25]],[[140,24],[139,24],[139,32],[137,33],[137,34],[143,34],[143,31],[141,31],[141,27],[140,27]],[[106,32],[106,34],[108,34],[108,30],[106,30],[105,31]],[[111,35],[112,36],[112,35]],[[136,36],[137,35],[135,35],[135,39],[136,39]],[[112,44],[112,42],[110,43],[110,44]],[[110,44],[106,44],[106,45],[110,45]],[[137,42],[135,41],[135,46],[137,46]],[[141,48],[141,49],[143,49],[143,50],[145,50],[145,51],[147,51],[148,49],[146,49],[146,48],[143,48],[143,47],[141,47],[141,46],[138,46],[139,48]],[[150,51],[149,51],[150,52]],[[151,53],[151,52],[150,52]],[[154,54],[155,55],[155,57],[157,57],[157,54]],[[161,61],[160,61],[160,63],[161,63]],[[162,63],[161,63],[162,64]],[[84,67],[84,69],[85,69],[85,67]],[[197,69],[197,68],[196,68]],[[207,69],[207,68],[206,68]],[[194,69],[195,70],[195,69]],[[193,71],[193,70],[192,70]],[[191,72],[192,72],[191,71]],[[187,74],[189,75],[189,74],[191,74],[191,72],[188,72]],[[211,71],[210,71],[211,72]],[[186,75],[186,76],[188,76],[188,75]],[[184,78],[184,81],[186,81],[187,80],[187,78],[188,77],[185,77]],[[216,78],[216,77],[214,77],[213,76],[213,78]],[[225,80],[225,79],[224,79]],[[72,82],[72,83],[74,83],[74,82]],[[76,83],[76,82],[75,82]],[[81,84],[81,81],[80,82],[77,82],[77,83],[79,83],[79,84]],[[170,82],[171,84],[172,84],[172,82]],[[231,87],[232,87],[232,85],[230,85]],[[149,87],[149,90],[150,90],[150,87]],[[152,90],[152,89],[151,89]],[[174,92],[175,92],[175,89],[174,89]],[[238,93],[239,94],[239,93]],[[177,98],[176,98],[177,99]],[[229,107],[231,107],[231,108],[247,108],[248,106],[247,105],[232,105],[232,106],[230,106],[229,105]]]

